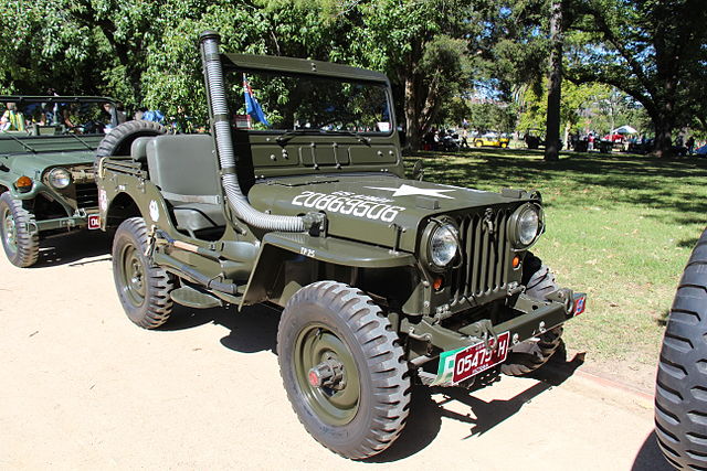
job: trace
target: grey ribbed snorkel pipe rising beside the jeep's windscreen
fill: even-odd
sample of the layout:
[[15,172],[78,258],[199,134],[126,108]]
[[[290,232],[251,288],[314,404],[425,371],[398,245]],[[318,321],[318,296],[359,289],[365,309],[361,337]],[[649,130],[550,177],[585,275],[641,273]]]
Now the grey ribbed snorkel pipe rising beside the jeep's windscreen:
[[235,215],[246,224],[266,231],[304,232],[309,224],[305,223],[307,216],[276,216],[265,214],[249,203],[241,191],[235,174],[235,152],[231,137],[231,121],[225,98],[225,85],[219,44],[221,36],[214,31],[204,31],[200,35],[201,63],[207,84],[207,97],[209,100],[209,114],[211,117],[212,132],[217,144],[217,154],[221,163],[221,184]]

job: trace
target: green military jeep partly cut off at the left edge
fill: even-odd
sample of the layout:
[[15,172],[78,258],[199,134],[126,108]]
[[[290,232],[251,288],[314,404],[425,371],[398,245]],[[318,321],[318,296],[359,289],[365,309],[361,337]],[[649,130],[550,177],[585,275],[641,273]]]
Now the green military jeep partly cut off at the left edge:
[[0,236],[10,261],[29,267],[41,238],[101,228],[93,163],[116,108],[103,97],[0,96],[0,103],[15,118],[0,130]]

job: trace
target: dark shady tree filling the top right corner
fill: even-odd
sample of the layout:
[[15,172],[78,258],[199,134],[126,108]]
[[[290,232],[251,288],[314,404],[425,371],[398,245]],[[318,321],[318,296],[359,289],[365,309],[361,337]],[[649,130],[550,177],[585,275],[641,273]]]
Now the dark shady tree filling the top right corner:
[[577,12],[568,78],[631,95],[651,116],[655,153],[669,154],[673,131],[704,110],[704,0],[578,0]]

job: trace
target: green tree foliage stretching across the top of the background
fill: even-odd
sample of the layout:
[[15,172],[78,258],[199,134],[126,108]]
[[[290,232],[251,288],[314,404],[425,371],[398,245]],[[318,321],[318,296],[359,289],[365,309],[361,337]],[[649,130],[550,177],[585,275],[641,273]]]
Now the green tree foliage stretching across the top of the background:
[[[433,126],[463,114],[479,128],[513,128],[517,118],[523,128],[547,114],[538,100],[547,97],[550,3],[563,9],[572,82],[562,85],[566,132],[578,110],[601,103],[588,101],[597,84],[645,109],[659,153],[676,129],[707,131],[703,0],[9,0],[0,6],[0,92],[108,95],[204,120],[197,41],[211,29],[228,51],[384,72],[418,148]],[[472,104],[479,87],[504,104]]]

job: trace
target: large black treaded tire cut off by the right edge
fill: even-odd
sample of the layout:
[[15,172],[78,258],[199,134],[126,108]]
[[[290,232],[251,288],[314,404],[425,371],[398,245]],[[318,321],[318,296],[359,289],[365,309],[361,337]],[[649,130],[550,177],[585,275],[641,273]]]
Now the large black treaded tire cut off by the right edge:
[[655,387],[655,435],[678,469],[707,469],[707,231],[667,320]]

